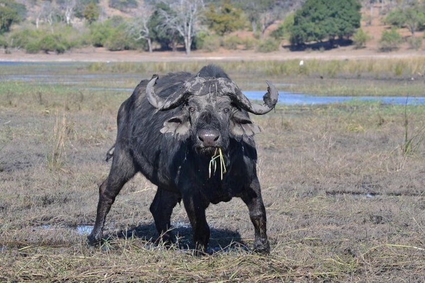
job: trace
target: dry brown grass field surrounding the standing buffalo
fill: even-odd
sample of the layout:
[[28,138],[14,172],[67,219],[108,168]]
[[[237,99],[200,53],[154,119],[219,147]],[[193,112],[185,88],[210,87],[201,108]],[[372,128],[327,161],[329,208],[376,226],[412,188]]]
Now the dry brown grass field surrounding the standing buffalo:
[[[72,66],[2,71],[53,72],[63,81],[0,84],[0,281],[425,281],[425,106],[281,105],[253,117],[263,129],[256,142],[270,255],[250,251],[253,225],[236,198],[206,211],[210,255],[186,247],[191,228],[178,205],[171,218],[177,244],[155,245],[149,205],[156,188],[140,175],[108,214],[109,240],[89,247],[76,227],[94,224],[116,112],[131,91],[68,87],[70,74],[90,74]],[[247,80],[236,72],[229,71],[237,83]],[[89,78],[84,86],[133,88],[150,75]],[[260,85],[269,79],[258,78]],[[317,80],[285,78],[291,82]],[[371,83],[382,80],[361,77],[347,87]],[[423,89],[423,79],[417,84]]]

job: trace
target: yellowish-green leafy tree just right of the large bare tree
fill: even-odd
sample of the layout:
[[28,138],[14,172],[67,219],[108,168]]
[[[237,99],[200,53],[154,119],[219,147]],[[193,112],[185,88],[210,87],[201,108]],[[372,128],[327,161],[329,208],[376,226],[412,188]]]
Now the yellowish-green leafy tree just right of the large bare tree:
[[241,15],[242,11],[234,8],[229,1],[223,1],[219,11],[211,3],[205,12],[205,22],[209,29],[223,36],[245,26]]

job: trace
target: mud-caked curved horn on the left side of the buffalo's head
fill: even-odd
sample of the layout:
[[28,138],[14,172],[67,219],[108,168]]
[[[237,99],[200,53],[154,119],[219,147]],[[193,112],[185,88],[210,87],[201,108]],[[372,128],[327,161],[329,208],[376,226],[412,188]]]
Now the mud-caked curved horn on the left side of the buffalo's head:
[[176,108],[177,106],[181,105],[189,95],[187,92],[184,91],[184,88],[181,88],[178,91],[174,92],[172,95],[170,95],[167,99],[163,100],[155,93],[154,85],[156,84],[157,79],[158,75],[153,75],[146,86],[146,98],[149,103],[157,110],[166,111]]

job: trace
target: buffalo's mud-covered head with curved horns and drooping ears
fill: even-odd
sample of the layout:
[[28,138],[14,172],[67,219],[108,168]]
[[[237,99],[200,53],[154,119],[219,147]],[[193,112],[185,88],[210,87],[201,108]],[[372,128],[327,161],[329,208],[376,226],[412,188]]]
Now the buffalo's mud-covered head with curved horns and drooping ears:
[[[228,78],[194,76],[163,100],[155,94],[154,75],[146,86],[146,98],[157,111],[181,107],[176,116],[164,121],[161,133],[172,133],[177,138],[190,136],[195,150],[211,155],[216,148],[226,148],[229,136],[235,138],[254,135],[260,128],[246,111],[266,114],[278,100],[272,83],[264,95],[264,104],[251,104],[239,87]],[[245,110],[245,111],[244,111]]]

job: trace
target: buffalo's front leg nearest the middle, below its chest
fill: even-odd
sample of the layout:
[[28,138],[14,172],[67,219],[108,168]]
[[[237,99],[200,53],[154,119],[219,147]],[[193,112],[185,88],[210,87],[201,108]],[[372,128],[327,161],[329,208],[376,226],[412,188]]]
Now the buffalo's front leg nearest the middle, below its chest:
[[195,242],[196,254],[203,254],[206,250],[209,240],[209,227],[206,223],[205,208],[202,205],[201,198],[193,193],[183,196],[184,208],[190,220],[193,230],[193,241]]

